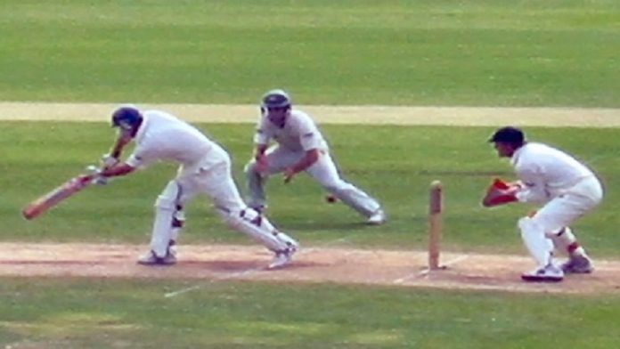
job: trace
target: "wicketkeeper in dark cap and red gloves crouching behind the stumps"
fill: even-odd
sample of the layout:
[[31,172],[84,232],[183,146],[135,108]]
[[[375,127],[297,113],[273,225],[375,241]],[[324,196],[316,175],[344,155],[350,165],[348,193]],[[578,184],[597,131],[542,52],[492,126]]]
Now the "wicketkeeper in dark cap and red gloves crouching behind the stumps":
[[[493,207],[510,202],[534,202],[542,207],[518,220],[521,237],[536,261],[526,281],[560,281],[565,273],[594,270],[591,260],[575,239],[569,225],[600,204],[603,189],[591,170],[567,153],[536,142],[526,142],[515,127],[502,127],[491,137],[502,158],[510,158],[518,176],[516,183],[494,183],[483,205]],[[566,263],[558,265],[554,247],[567,253]]]

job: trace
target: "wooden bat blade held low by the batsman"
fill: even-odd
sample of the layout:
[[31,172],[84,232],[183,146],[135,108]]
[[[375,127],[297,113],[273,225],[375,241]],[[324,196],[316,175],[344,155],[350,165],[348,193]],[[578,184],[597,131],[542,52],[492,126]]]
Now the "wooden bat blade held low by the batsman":
[[21,214],[24,218],[29,220],[43,215],[47,210],[60,204],[65,199],[70,198],[91,183],[93,183],[93,177],[90,175],[78,175],[77,177],[73,177],[69,179],[69,181],[54,188],[52,191],[30,202],[21,211]]

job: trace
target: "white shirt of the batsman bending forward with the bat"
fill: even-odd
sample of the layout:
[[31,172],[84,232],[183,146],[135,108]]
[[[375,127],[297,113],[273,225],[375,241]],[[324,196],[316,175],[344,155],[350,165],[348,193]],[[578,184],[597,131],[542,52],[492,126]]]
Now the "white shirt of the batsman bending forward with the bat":
[[134,153],[126,163],[148,166],[159,160],[181,164],[180,171],[197,171],[222,161],[224,150],[196,127],[159,110],[142,111],[143,124],[135,134]]

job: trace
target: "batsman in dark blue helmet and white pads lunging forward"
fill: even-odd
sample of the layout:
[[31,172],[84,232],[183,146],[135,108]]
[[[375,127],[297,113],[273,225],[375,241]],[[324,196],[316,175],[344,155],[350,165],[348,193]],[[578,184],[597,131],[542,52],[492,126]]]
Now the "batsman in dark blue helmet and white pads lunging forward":
[[[180,164],[175,179],[167,183],[155,202],[151,251],[139,264],[175,264],[175,243],[184,225],[184,207],[197,194],[207,194],[216,211],[233,229],[248,234],[274,253],[269,268],[289,264],[298,243],[278,231],[264,215],[249,208],[232,180],[231,159],[216,142],[184,121],[159,110],[122,107],[112,114],[118,139],[103,157],[102,177],[127,175],[158,160]],[[118,160],[127,143],[135,150],[125,162]]]

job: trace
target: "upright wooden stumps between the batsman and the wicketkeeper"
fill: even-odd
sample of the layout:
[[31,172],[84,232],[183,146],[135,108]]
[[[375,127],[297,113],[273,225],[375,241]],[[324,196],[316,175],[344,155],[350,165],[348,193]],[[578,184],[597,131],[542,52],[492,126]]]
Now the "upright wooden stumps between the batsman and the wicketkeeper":
[[444,193],[442,183],[430,183],[428,196],[428,271],[445,269],[439,266],[439,251],[442,235],[442,212],[444,211]]

